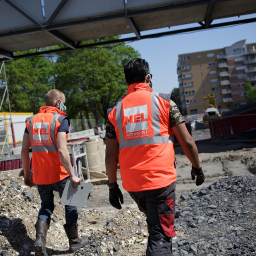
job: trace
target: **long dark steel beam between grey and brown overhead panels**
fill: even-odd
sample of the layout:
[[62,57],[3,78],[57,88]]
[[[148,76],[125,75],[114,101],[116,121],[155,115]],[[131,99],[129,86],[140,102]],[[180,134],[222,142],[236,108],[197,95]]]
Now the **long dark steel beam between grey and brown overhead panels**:
[[[7,1],[10,1],[10,0],[7,0]],[[215,0],[216,3],[227,2],[227,1],[231,1],[231,0]],[[188,3],[182,3],[182,4],[167,5],[167,6],[163,6],[163,7],[156,7],[156,8],[146,9],[146,10],[142,10],[142,11],[134,11],[134,12],[127,12],[127,13],[124,12],[124,13],[119,13],[119,14],[108,15],[105,17],[97,17],[97,18],[91,18],[91,19],[70,21],[70,22],[60,23],[60,24],[56,24],[56,25],[49,25],[49,26],[44,26],[44,27],[37,27],[37,28],[30,28],[30,29],[23,29],[23,30],[18,30],[18,31],[7,32],[7,33],[0,34],[0,38],[6,37],[6,36],[34,33],[34,32],[39,32],[41,30],[53,30],[53,29],[70,27],[70,26],[83,25],[86,23],[92,23],[92,22],[97,22],[97,21],[105,21],[105,20],[119,19],[119,18],[132,18],[132,17],[138,16],[141,14],[174,10],[174,9],[182,9],[182,8],[187,8],[187,7],[191,7],[191,6],[206,5],[206,4],[210,4],[210,3],[211,3],[211,0],[200,0],[200,1],[196,1],[196,2],[188,2]]]

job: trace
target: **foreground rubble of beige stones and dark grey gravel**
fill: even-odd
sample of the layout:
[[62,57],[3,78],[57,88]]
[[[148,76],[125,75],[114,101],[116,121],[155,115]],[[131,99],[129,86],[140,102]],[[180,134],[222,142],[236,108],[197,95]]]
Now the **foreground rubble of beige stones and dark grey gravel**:
[[[0,198],[0,254],[33,254],[34,224],[40,207],[36,188],[23,186],[23,178],[2,173]],[[182,194],[176,202],[178,236],[173,239],[173,254],[256,255],[255,205],[255,177],[227,178],[190,195]],[[53,215],[47,234],[47,252],[71,255],[65,251],[64,207],[55,203],[54,213],[58,214]],[[79,209],[80,234],[89,235],[89,244],[72,255],[145,255],[147,223],[137,206],[126,207],[99,227],[97,222],[105,218],[104,214]]]

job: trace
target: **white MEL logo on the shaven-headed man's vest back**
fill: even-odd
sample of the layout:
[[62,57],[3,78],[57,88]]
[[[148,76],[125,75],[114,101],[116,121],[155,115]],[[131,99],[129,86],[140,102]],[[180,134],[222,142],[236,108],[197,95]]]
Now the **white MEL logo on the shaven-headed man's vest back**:
[[34,146],[50,146],[49,123],[33,124],[33,144]]

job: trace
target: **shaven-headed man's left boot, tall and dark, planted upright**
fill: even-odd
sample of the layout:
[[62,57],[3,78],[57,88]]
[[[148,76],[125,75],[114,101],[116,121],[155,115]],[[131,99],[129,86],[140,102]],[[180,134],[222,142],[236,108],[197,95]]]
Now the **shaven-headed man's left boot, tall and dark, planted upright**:
[[43,220],[38,220],[36,222],[35,227],[36,227],[36,241],[34,244],[35,255],[47,256],[45,243],[46,243],[46,234],[47,234],[48,224]]

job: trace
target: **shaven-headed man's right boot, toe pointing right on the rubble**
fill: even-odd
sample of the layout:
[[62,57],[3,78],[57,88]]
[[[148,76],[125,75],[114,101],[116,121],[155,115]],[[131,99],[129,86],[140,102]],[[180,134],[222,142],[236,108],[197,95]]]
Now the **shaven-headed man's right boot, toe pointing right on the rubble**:
[[76,252],[89,242],[87,236],[84,236],[83,238],[78,238],[77,225],[72,227],[64,225],[64,229],[69,241],[69,252]]

